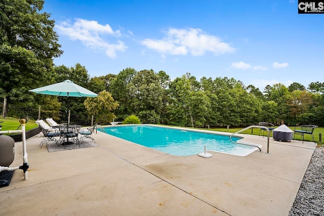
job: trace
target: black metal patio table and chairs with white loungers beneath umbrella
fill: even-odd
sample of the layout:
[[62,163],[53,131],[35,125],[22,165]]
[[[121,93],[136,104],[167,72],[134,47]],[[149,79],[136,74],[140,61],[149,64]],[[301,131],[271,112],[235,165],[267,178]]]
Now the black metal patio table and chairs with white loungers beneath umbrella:
[[[42,146],[48,142],[55,142],[57,145],[71,145],[83,143],[85,139],[91,139],[92,134],[95,130],[95,125],[88,128],[81,128],[80,125],[76,124],[57,124],[52,118],[44,120],[37,120],[36,123],[42,129],[44,135],[43,141],[39,144]],[[79,138],[80,135],[80,138]],[[58,139],[56,139],[58,137]]]

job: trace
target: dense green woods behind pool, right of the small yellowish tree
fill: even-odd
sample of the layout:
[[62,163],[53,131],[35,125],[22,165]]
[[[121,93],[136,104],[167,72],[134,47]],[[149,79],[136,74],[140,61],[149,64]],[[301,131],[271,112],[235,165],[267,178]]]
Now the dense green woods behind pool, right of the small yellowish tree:
[[307,90],[297,82],[289,87],[277,83],[261,92],[234,78],[197,80],[186,73],[170,80],[165,71],[133,68],[91,80],[97,83],[97,90],[105,88],[118,101],[114,114],[121,120],[135,114],[143,123],[192,127],[244,126],[260,121],[324,124],[324,82],[312,82]]

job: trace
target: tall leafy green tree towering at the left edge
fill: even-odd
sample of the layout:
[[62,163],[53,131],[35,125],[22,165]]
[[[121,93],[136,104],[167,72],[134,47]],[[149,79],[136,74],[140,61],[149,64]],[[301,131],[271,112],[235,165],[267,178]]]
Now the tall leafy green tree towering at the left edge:
[[31,101],[28,90],[51,79],[53,58],[62,54],[43,0],[0,1],[0,95]]

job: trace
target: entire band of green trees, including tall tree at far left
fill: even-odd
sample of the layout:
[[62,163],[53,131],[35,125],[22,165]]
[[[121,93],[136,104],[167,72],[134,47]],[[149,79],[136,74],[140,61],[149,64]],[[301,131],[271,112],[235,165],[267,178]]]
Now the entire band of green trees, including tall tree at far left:
[[7,103],[42,105],[52,115],[66,111],[66,98],[35,95],[28,90],[70,79],[99,94],[92,100],[69,98],[72,113],[86,112],[123,120],[135,114],[143,123],[206,125],[324,125],[324,82],[289,87],[277,83],[263,92],[228,77],[197,80],[186,73],[174,80],[165,71],[126,68],[117,74],[90,77],[85,66],[56,66],[62,55],[55,21],[43,12],[43,0],[0,2],[0,96]]

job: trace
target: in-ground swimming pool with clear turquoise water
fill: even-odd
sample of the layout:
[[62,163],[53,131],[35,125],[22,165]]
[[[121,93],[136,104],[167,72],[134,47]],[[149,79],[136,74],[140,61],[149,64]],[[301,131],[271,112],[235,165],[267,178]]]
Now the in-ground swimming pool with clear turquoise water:
[[[232,143],[229,136],[152,125],[119,125],[104,127],[112,136],[172,155],[188,156],[207,150],[246,156],[257,148]],[[241,137],[232,137],[237,141]]]

